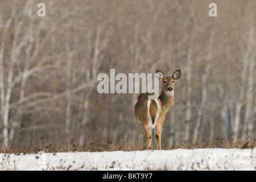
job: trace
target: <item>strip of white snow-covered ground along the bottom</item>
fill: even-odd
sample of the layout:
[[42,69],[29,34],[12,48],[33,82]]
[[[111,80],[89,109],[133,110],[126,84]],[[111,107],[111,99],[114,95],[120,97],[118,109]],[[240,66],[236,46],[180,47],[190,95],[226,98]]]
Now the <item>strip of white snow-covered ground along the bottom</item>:
[[256,148],[0,154],[0,170],[256,170]]

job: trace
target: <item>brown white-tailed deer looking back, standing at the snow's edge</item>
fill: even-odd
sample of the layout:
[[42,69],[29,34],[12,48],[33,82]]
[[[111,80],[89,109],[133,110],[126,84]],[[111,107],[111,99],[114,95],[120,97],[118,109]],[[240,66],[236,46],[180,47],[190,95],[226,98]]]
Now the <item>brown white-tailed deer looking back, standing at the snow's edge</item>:
[[151,99],[154,93],[142,93],[134,107],[136,120],[141,124],[142,131],[146,137],[147,149],[153,148],[152,131],[155,129],[158,150],[161,150],[161,135],[163,122],[166,113],[170,110],[174,101],[174,82],[181,77],[181,71],[178,69],[173,76],[164,76],[157,70],[157,77],[162,81],[162,92],[158,98]]

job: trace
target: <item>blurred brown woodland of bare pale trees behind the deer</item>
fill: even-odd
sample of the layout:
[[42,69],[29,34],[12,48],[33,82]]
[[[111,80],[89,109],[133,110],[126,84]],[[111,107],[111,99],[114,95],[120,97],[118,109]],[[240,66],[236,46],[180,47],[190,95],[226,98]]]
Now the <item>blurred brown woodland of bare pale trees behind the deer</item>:
[[256,1],[216,1],[213,18],[211,2],[0,0],[0,144],[141,141],[139,94],[97,92],[111,68],[181,69],[164,144],[254,138]]

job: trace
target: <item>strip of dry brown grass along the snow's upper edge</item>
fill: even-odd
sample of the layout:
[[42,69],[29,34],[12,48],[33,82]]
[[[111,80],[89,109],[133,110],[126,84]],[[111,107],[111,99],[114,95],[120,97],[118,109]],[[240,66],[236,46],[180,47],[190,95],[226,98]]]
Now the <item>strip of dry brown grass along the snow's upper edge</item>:
[[[231,138],[231,139],[204,139],[202,143],[197,143],[197,141],[191,142],[181,142],[175,141],[174,144],[169,146],[163,146],[163,150],[174,150],[177,148],[183,149],[195,149],[195,148],[254,148],[256,147],[256,138],[242,140],[242,137]],[[155,148],[154,148],[155,149]],[[98,140],[98,139],[87,139],[82,145],[71,140],[70,142],[58,142],[49,143],[46,140],[40,140],[37,145],[33,146],[27,144],[25,147],[14,146],[9,144],[5,146],[1,144],[0,153],[6,154],[30,154],[37,153],[38,151],[44,152],[101,152],[101,151],[137,151],[145,150],[145,144],[138,142],[137,140],[119,140],[116,142],[110,142],[108,139]]]

